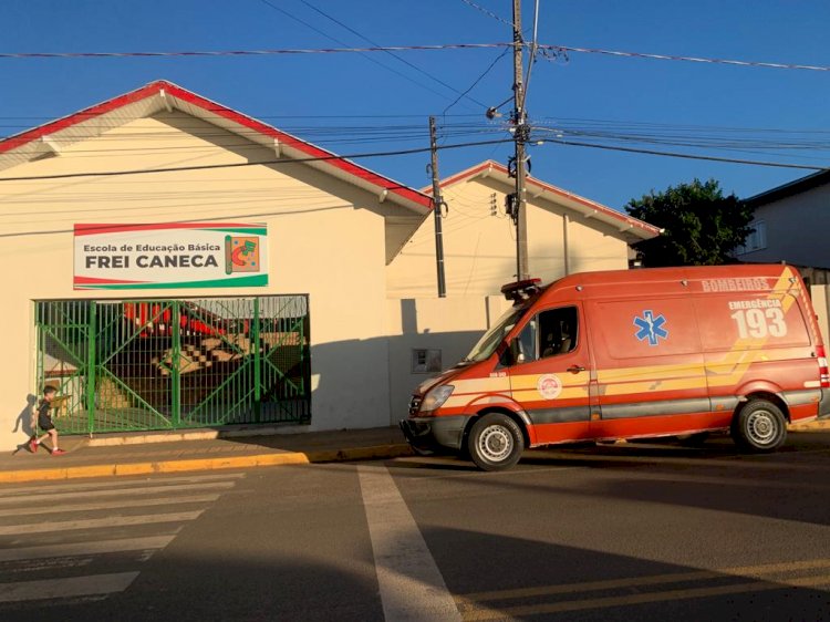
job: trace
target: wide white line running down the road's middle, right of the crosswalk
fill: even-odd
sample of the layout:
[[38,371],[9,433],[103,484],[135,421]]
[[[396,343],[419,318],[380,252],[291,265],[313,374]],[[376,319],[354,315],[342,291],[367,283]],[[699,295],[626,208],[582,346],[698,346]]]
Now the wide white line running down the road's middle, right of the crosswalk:
[[386,622],[460,620],[390,471],[359,466],[357,473]]

